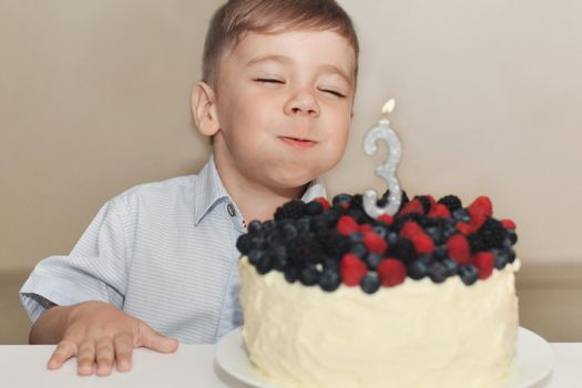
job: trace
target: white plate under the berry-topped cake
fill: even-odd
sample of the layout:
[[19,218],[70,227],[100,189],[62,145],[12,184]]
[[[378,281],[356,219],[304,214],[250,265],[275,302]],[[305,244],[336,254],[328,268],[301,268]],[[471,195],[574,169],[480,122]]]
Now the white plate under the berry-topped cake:
[[[502,388],[527,388],[541,381],[553,368],[553,353],[550,345],[533,331],[523,327],[518,330],[515,364],[513,374]],[[258,376],[245,349],[241,328],[224,336],[216,347],[216,363],[232,377],[257,388],[277,388]]]

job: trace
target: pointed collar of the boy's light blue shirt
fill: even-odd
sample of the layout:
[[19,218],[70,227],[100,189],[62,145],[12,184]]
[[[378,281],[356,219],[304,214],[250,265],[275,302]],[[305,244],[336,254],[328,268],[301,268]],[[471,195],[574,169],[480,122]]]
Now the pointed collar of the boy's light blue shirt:
[[[319,196],[326,197],[326,188],[323,178],[317,177],[309,182],[302,201],[309,202]],[[216,170],[214,156],[211,155],[197,177],[194,193],[194,225],[198,225],[218,201],[229,197]]]

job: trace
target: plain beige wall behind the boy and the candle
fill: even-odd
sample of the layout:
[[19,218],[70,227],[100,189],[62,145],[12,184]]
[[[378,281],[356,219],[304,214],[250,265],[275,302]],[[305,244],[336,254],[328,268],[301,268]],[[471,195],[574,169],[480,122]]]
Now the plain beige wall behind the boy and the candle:
[[[363,55],[330,192],[384,191],[361,139],[395,96],[409,193],[488,194],[525,261],[582,261],[582,2],[340,2]],[[219,3],[0,0],[0,270],[67,254],[123,190],[200,169],[188,96]]]

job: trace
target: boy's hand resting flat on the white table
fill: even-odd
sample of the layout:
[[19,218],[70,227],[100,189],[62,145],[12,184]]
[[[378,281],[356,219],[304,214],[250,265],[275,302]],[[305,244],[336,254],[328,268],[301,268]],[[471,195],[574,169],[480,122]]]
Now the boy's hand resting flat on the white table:
[[174,353],[177,340],[163,337],[142,320],[103,302],[84,302],[70,306],[64,334],[49,359],[49,369],[59,369],[76,357],[82,376],[108,376],[115,360],[119,371],[129,371],[133,349],[146,347],[160,353]]

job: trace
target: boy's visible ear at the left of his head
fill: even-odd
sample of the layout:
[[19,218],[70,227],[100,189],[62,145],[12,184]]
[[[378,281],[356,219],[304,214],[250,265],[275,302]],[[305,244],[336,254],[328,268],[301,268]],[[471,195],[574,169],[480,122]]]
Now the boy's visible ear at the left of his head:
[[213,136],[221,129],[216,112],[216,93],[206,82],[198,82],[192,90],[192,113],[198,131]]

